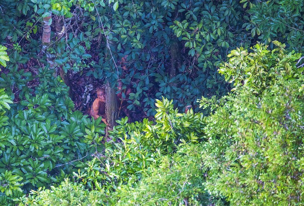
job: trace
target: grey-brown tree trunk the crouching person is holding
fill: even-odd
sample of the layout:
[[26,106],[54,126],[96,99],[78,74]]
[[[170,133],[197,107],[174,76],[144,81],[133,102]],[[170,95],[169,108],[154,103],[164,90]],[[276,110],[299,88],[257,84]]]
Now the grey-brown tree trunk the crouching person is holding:
[[106,84],[106,117],[109,126],[106,130],[106,137],[108,136],[108,130],[112,130],[116,125],[116,119],[118,117],[118,104],[116,87],[111,87],[109,81]]

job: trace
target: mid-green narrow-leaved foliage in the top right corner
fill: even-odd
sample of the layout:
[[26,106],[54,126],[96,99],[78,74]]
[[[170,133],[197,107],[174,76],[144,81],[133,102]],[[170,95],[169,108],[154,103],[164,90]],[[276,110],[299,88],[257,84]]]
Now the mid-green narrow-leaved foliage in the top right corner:
[[[241,2],[246,4],[250,0]],[[303,5],[302,0],[254,2],[248,10],[251,21],[244,26],[247,29],[252,28],[251,31],[260,35],[259,40],[266,44],[278,40],[286,42],[291,49],[297,52],[303,52]]]

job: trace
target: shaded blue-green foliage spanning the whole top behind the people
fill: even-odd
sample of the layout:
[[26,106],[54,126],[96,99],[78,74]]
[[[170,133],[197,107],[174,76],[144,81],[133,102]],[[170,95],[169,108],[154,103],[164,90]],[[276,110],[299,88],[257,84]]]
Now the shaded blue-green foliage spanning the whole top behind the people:
[[[279,40],[303,52],[302,7],[302,1],[291,0],[3,0],[0,42],[11,57],[7,68],[21,76],[24,69],[22,79],[47,64],[45,53],[55,56],[57,73],[82,111],[96,87],[121,79],[132,88],[129,108],[134,115],[142,111],[135,118],[141,120],[155,115],[155,99],[162,96],[180,110],[192,105],[198,112],[198,96],[226,94],[231,87],[217,69],[236,47],[256,41],[273,47]],[[51,42],[45,50],[41,20],[50,12]],[[20,90],[17,99],[32,86],[23,82],[16,89],[4,80],[1,87]]]

